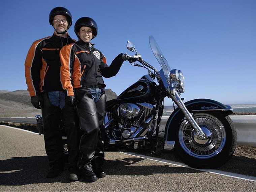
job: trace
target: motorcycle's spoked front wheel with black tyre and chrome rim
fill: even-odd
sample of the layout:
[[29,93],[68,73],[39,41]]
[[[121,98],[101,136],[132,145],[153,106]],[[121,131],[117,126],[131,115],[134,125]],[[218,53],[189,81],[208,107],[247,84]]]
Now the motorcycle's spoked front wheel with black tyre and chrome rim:
[[195,113],[193,118],[207,137],[199,139],[188,120],[182,119],[175,151],[191,167],[220,167],[235,151],[237,134],[232,120],[222,113]]

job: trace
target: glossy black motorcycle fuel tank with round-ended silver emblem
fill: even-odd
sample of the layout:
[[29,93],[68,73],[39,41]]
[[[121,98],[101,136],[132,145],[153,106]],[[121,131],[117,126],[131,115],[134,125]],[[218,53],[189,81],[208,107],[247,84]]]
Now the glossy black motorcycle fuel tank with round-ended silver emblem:
[[149,75],[142,76],[139,81],[127,88],[117,97],[122,102],[149,102],[156,104],[156,83]]

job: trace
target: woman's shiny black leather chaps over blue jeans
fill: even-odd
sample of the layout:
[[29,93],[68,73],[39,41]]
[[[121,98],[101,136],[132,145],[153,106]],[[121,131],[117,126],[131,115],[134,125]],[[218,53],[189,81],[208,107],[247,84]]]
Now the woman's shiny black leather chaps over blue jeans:
[[83,169],[88,164],[103,165],[104,162],[104,113],[106,95],[100,96],[95,103],[90,88],[75,89],[79,103],[76,105],[82,136],[79,143],[78,167]]

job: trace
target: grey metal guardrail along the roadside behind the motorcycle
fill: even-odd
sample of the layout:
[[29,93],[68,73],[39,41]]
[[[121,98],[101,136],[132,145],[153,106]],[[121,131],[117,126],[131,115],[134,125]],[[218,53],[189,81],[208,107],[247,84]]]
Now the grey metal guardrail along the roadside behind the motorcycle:
[[[237,131],[237,145],[256,147],[256,115],[229,116]],[[169,117],[163,116],[160,130],[165,129]],[[0,121],[36,124],[35,118],[0,118]],[[164,136],[163,132],[159,136]]]

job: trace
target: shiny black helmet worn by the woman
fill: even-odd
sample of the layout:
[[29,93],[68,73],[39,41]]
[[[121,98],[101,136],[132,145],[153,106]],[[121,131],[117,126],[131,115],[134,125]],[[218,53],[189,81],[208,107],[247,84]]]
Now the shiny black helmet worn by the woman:
[[[77,32],[79,32],[81,27],[91,27],[93,30],[93,38],[98,34],[98,26],[97,23],[89,17],[81,17],[75,22],[75,34],[78,37]],[[79,38],[79,37],[78,37]]]

